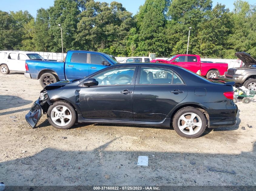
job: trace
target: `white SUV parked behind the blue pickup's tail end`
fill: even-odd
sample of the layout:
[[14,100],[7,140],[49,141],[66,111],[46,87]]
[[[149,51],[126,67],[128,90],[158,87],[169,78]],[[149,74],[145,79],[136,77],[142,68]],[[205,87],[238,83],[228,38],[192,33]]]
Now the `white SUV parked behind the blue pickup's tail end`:
[[2,74],[9,74],[10,71],[25,72],[26,60],[44,60],[44,58],[34,52],[0,51],[0,72]]

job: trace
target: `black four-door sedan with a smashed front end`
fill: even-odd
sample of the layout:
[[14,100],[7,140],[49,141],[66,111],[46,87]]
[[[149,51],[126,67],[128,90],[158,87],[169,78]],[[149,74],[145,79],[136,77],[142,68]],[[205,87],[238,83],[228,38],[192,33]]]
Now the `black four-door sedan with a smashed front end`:
[[32,128],[42,113],[58,129],[75,123],[173,126],[179,135],[197,138],[206,127],[236,123],[233,85],[176,65],[117,64],[46,86],[25,118]]

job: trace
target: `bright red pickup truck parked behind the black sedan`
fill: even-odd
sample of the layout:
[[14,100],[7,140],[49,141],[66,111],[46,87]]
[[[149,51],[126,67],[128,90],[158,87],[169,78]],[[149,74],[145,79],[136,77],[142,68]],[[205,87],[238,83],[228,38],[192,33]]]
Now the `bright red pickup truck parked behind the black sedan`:
[[[177,54],[167,60],[155,59],[150,62],[175,64],[195,73],[200,70],[201,75],[206,76],[206,78],[218,78],[219,75],[223,76],[224,73],[228,71],[227,63],[201,61],[199,55],[193,54]],[[165,78],[164,74],[161,76]],[[161,76],[159,74],[159,77]]]

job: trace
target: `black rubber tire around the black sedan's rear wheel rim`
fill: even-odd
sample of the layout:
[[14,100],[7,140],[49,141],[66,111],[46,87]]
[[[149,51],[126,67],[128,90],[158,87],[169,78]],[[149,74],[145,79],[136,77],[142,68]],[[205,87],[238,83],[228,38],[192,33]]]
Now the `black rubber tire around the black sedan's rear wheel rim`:
[[[202,124],[201,129],[199,129],[198,132],[196,132],[195,134],[192,134],[192,135],[185,134],[178,127],[179,118],[182,115],[186,114],[186,113],[195,113],[201,119],[201,124]],[[188,117],[189,117],[189,115],[188,115]],[[194,119],[194,120],[198,120],[198,119]],[[188,123],[190,123],[190,122],[188,122]],[[197,122],[196,121],[192,122],[192,125],[193,125],[193,123],[197,123]],[[198,138],[198,137],[200,137],[203,134],[203,132],[205,131],[207,123],[208,123],[208,121],[207,121],[206,117],[204,116],[204,114],[195,107],[183,107],[183,108],[181,108],[180,110],[178,110],[178,112],[174,115],[174,117],[172,119],[172,126],[173,126],[174,130],[178,133],[178,135],[180,135],[181,137],[185,137],[185,138]],[[196,130],[197,127],[192,126],[192,128],[193,128],[193,131],[194,131],[194,130]],[[185,128],[185,131],[187,131],[187,129],[188,128]]]

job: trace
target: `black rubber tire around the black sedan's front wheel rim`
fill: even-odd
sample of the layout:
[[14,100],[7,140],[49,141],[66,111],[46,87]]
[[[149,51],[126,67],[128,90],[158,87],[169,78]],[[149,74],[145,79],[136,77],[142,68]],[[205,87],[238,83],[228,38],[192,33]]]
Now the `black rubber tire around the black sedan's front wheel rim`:
[[[64,113],[64,115],[66,114],[66,115],[69,115],[69,113],[71,114],[71,119],[70,119],[70,122],[67,124],[67,125],[65,125],[65,126],[59,126],[59,125],[57,125],[56,124],[56,122],[54,123],[53,122],[53,120],[52,120],[52,116],[51,116],[51,113],[52,113],[52,110],[55,108],[55,107],[57,107],[57,106],[65,106],[65,107],[67,107],[68,108],[68,110],[70,111],[68,111],[68,110],[66,110],[65,112],[66,113]],[[62,109],[63,109],[63,107],[62,107]],[[56,112],[55,112],[56,113]],[[62,113],[61,113],[62,114]],[[47,117],[48,117],[48,121],[49,121],[49,123],[53,126],[53,127],[55,127],[55,128],[57,128],[57,129],[69,129],[69,128],[71,128],[74,124],[75,124],[75,122],[76,122],[76,119],[77,119],[77,115],[76,115],[76,112],[75,112],[75,108],[71,105],[71,103],[69,103],[68,101],[56,101],[56,102],[54,102],[50,107],[49,107],[49,109],[48,109],[48,111],[47,111]],[[66,118],[67,119],[67,118]],[[63,120],[65,120],[64,118],[63,118]],[[67,119],[68,120],[68,119]],[[66,122],[67,122],[67,120],[66,120]],[[58,123],[61,123],[61,119],[57,119],[56,120]]]

